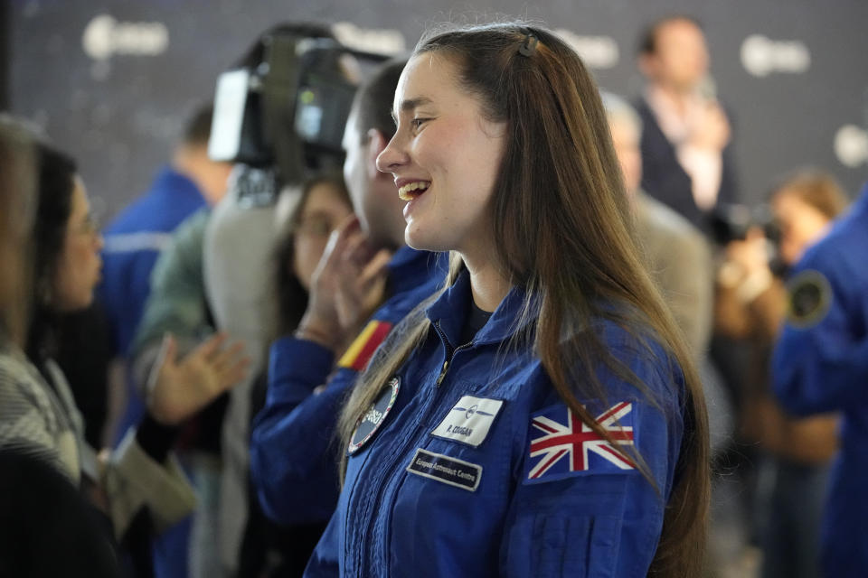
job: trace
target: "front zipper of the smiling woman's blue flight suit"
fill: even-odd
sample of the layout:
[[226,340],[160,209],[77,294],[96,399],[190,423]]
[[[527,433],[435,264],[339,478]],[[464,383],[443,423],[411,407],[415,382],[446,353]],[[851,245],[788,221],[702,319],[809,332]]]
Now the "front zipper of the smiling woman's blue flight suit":
[[[380,476],[377,477],[376,482],[370,486],[371,489],[374,489],[376,495],[374,496],[373,499],[369,500],[368,503],[364,505],[363,517],[361,517],[361,519],[369,520],[369,523],[365,526],[365,531],[364,531],[363,535],[361,536],[361,538],[362,538],[361,539],[361,546],[362,547],[360,547],[358,549],[356,556],[355,556],[355,560],[356,560],[356,568],[355,568],[356,572],[355,573],[356,573],[356,575],[359,575],[359,576],[363,575],[363,568],[365,566],[365,560],[368,558],[369,548],[371,547],[368,545],[368,539],[373,536],[373,533],[374,533],[375,527],[376,527],[375,517],[373,517],[371,515],[371,510],[373,509],[373,505],[381,503],[383,493],[386,490],[386,486],[389,485],[387,480],[393,480],[396,471],[401,469],[397,465],[401,461],[401,457],[407,454],[407,450],[413,444],[418,445],[420,443],[421,439],[424,438],[424,434],[427,431],[429,421],[430,421],[430,411],[432,408],[434,408],[438,405],[438,401],[440,398],[439,386],[441,383],[443,383],[443,379],[446,378],[448,368],[451,365],[452,359],[455,357],[455,354],[458,353],[458,351],[460,351],[460,350],[466,350],[466,349],[469,349],[470,347],[473,346],[473,340],[470,340],[467,343],[465,343],[464,345],[459,345],[457,348],[453,348],[452,345],[449,343],[449,340],[446,338],[446,334],[443,332],[443,330],[440,329],[440,323],[434,322],[433,325],[434,325],[434,330],[437,331],[438,335],[440,336],[440,340],[443,341],[443,344],[446,347],[446,360],[443,362],[443,366],[442,366],[442,368],[440,368],[440,373],[434,382],[435,387],[434,387],[434,390],[432,392],[432,395],[429,396],[429,404],[427,406],[425,406],[420,412],[422,415],[420,415],[419,423],[416,424],[416,426],[413,428],[411,435],[404,438],[404,443],[402,443],[396,451],[391,452],[391,454],[388,457],[388,464],[389,465],[382,469],[381,474],[380,474]],[[390,509],[392,508],[392,503],[393,503],[394,499],[395,499],[395,496],[392,496],[392,500],[390,500],[390,504],[389,504]],[[383,548],[386,550],[388,550],[388,547],[389,547],[389,545],[383,545]]]

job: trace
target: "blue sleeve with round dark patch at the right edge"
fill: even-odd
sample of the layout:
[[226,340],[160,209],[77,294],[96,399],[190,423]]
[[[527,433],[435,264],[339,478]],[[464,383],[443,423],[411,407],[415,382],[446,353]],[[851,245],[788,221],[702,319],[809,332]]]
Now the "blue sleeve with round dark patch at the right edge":
[[[866,399],[868,295],[859,281],[866,273],[849,266],[836,247],[822,248],[809,252],[792,277],[791,312],[772,357],[775,393],[797,415],[862,406]],[[812,287],[816,302],[798,311],[800,294]]]

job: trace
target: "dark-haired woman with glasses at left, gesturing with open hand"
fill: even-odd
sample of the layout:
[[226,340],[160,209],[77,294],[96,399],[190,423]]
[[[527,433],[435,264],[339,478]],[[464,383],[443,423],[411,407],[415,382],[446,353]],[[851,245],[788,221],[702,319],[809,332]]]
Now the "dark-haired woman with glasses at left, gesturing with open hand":
[[[36,173],[33,228],[21,267],[31,290],[24,349],[0,351],[0,447],[42,459],[87,490],[108,514],[114,535],[150,536],[187,516],[195,497],[169,455],[176,428],[243,375],[240,347],[217,336],[180,361],[171,341],[149,385],[149,414],[117,451],[97,457],[70,387],[52,360],[62,312],[90,305],[99,280],[102,237],[75,163],[30,135]],[[180,391],[183,390],[183,391]]]

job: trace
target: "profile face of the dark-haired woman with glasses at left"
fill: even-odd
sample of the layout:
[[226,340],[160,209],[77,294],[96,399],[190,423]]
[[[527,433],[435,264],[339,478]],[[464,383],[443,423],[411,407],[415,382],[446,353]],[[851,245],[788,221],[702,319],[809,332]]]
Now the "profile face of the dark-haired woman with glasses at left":
[[54,273],[54,309],[72,312],[90,305],[102,267],[101,248],[102,236],[90,214],[87,192],[81,179],[76,177],[70,219]]

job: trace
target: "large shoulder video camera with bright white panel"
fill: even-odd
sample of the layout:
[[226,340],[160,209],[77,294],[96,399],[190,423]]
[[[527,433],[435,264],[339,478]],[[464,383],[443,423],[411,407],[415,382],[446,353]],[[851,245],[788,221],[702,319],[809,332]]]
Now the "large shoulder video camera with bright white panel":
[[386,57],[347,49],[332,38],[287,30],[267,33],[258,49],[258,61],[244,62],[217,80],[209,156],[254,169],[276,169],[278,187],[265,189],[339,167],[356,89],[345,63]]

